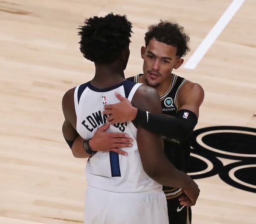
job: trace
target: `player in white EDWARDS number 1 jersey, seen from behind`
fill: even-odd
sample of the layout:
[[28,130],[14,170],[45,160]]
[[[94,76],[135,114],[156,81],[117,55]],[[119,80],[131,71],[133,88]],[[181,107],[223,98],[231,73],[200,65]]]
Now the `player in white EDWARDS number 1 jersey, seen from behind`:
[[81,26],[80,50],[95,64],[94,78],[64,95],[63,134],[74,156],[90,157],[86,166],[87,193],[84,209],[86,224],[168,224],[166,198],[161,184],[181,187],[192,203],[199,189],[192,179],[177,170],[165,157],[163,140],[131,121],[110,126],[109,131],[127,133],[133,140],[129,155],[74,150],[79,135],[90,139],[106,123],[104,106],[118,102],[115,92],[133,105],[160,113],[159,95],[153,88],[125,80],[129,57],[131,23],[125,16],[108,14],[85,20]]

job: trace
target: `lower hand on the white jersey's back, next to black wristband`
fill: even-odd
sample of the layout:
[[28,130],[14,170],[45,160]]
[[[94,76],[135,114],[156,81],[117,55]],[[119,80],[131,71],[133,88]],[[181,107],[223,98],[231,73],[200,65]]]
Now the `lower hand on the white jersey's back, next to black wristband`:
[[127,156],[128,153],[120,148],[131,147],[133,139],[125,133],[106,132],[110,124],[102,125],[89,141],[89,145],[93,151],[108,152],[113,151]]

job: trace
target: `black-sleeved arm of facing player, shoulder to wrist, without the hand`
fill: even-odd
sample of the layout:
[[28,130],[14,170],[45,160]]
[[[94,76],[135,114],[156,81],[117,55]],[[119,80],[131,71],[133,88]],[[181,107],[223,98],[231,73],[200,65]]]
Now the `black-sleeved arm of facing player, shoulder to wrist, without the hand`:
[[135,121],[149,131],[184,141],[192,134],[198,122],[199,107],[203,100],[202,87],[196,83],[188,83],[178,93],[179,111],[175,117],[152,113],[147,115],[145,111],[139,109]]

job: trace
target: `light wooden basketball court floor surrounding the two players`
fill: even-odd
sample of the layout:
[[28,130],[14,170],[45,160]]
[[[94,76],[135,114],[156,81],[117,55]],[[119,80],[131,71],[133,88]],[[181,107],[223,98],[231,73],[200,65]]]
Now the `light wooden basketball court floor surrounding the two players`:
[[[64,142],[61,99],[94,74],[79,51],[77,28],[84,18],[128,16],[134,31],[125,71],[130,77],[142,72],[140,47],[149,24],[163,19],[185,27],[191,37],[185,65],[232,2],[1,0],[0,224],[82,223],[86,159],[74,158]],[[245,0],[198,65],[174,71],[204,88],[195,129],[256,128],[255,9],[255,0]],[[255,193],[218,175],[195,181],[201,194],[192,208],[194,224],[256,223]]]

